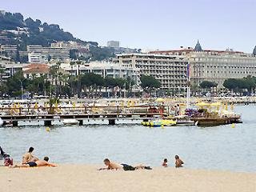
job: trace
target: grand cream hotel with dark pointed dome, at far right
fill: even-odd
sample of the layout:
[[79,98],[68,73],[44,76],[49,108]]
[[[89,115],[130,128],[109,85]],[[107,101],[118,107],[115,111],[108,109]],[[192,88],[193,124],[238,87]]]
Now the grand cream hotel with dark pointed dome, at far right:
[[195,48],[181,50],[152,51],[150,54],[183,56],[190,63],[191,85],[199,86],[202,81],[217,82],[218,87],[227,78],[256,76],[256,46],[253,54],[234,50],[202,50],[198,42]]

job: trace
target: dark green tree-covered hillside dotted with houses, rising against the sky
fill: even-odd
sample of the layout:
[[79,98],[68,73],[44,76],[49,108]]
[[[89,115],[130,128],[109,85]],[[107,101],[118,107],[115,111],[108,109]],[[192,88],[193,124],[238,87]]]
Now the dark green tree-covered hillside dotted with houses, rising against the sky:
[[[20,13],[11,14],[6,12],[0,14],[0,31],[2,31],[2,34],[6,34],[7,38],[10,38],[10,44],[17,44],[19,50],[26,50],[26,45],[29,44],[50,46],[51,42],[58,41],[87,43],[74,38],[72,34],[62,30],[56,24],[42,23],[39,19],[34,20],[32,18],[24,20]],[[98,46],[97,42],[90,43]]]

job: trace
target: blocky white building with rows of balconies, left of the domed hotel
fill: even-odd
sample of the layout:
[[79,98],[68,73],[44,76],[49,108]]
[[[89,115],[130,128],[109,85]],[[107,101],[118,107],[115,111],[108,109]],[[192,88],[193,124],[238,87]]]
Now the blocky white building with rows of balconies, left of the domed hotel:
[[182,56],[160,54],[118,54],[115,62],[138,68],[140,74],[151,75],[161,82],[162,90],[186,89],[187,60]]

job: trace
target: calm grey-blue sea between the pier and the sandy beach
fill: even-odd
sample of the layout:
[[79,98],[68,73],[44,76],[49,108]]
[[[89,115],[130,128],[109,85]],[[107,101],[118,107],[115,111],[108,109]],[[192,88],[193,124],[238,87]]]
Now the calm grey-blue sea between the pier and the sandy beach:
[[44,126],[0,128],[0,146],[16,161],[30,146],[39,158],[58,163],[102,164],[103,158],[128,164],[174,164],[178,154],[193,169],[256,172],[256,106],[236,106],[242,124],[214,127],[147,128],[122,126]]

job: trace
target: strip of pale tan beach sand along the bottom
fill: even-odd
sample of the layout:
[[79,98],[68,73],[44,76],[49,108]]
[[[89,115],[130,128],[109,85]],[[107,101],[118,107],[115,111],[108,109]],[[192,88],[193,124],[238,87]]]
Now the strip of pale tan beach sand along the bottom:
[[0,189],[6,192],[256,191],[254,173],[170,167],[158,167],[154,170],[98,171],[98,167],[85,165],[25,169],[0,167]]

